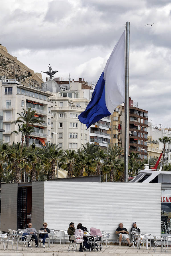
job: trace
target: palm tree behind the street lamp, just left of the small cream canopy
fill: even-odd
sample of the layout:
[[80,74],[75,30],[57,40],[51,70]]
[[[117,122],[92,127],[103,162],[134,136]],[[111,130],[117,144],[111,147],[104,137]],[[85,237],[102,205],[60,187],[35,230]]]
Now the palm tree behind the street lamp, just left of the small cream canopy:
[[55,143],[50,145],[50,143],[45,143],[45,146],[43,146],[44,149],[44,156],[47,160],[46,164],[50,164],[50,171],[48,174],[49,179],[55,178],[55,166],[58,161],[58,158],[62,157],[62,149],[58,149],[58,145]]

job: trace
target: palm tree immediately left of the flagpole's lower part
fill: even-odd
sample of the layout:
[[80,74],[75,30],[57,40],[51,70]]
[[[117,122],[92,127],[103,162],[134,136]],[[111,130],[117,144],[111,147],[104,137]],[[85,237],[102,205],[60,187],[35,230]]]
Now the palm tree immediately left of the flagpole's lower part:
[[109,146],[108,151],[108,160],[107,164],[110,168],[110,182],[113,182],[117,175],[117,169],[119,167],[119,164],[121,163],[121,159],[119,159],[119,156],[123,152],[123,148],[120,148],[119,146]]

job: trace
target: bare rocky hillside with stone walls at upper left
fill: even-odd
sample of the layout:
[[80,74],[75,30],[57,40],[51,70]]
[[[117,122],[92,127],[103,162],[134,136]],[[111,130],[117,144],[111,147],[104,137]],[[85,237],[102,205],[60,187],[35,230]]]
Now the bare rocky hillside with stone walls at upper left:
[[[19,79],[22,77],[22,83],[26,85],[38,85],[44,82],[41,73],[34,73],[21,61],[10,55],[6,47],[0,45],[0,75],[6,76],[6,79]],[[20,80],[20,79],[19,79]]]

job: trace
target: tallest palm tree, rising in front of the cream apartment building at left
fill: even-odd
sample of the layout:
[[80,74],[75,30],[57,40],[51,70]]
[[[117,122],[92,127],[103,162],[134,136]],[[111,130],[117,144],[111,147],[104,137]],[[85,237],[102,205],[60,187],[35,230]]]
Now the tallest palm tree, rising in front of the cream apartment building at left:
[[17,113],[19,115],[17,120],[15,120],[13,122],[15,124],[17,124],[17,123],[25,124],[25,129],[26,129],[25,135],[26,135],[26,146],[27,147],[29,146],[29,135],[33,132],[30,127],[32,127],[34,125],[34,123],[38,123],[38,124],[44,123],[44,121],[41,121],[34,116],[35,112],[36,112],[36,110],[31,111],[31,108],[28,108],[27,110],[25,110],[23,108],[23,111],[21,113]]

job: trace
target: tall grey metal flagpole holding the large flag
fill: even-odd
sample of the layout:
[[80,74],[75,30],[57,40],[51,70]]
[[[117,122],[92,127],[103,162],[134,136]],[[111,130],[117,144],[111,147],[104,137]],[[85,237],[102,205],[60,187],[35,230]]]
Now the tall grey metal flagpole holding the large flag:
[[129,27],[126,22],[125,37],[125,154],[124,154],[124,181],[128,182],[128,153],[129,153]]

